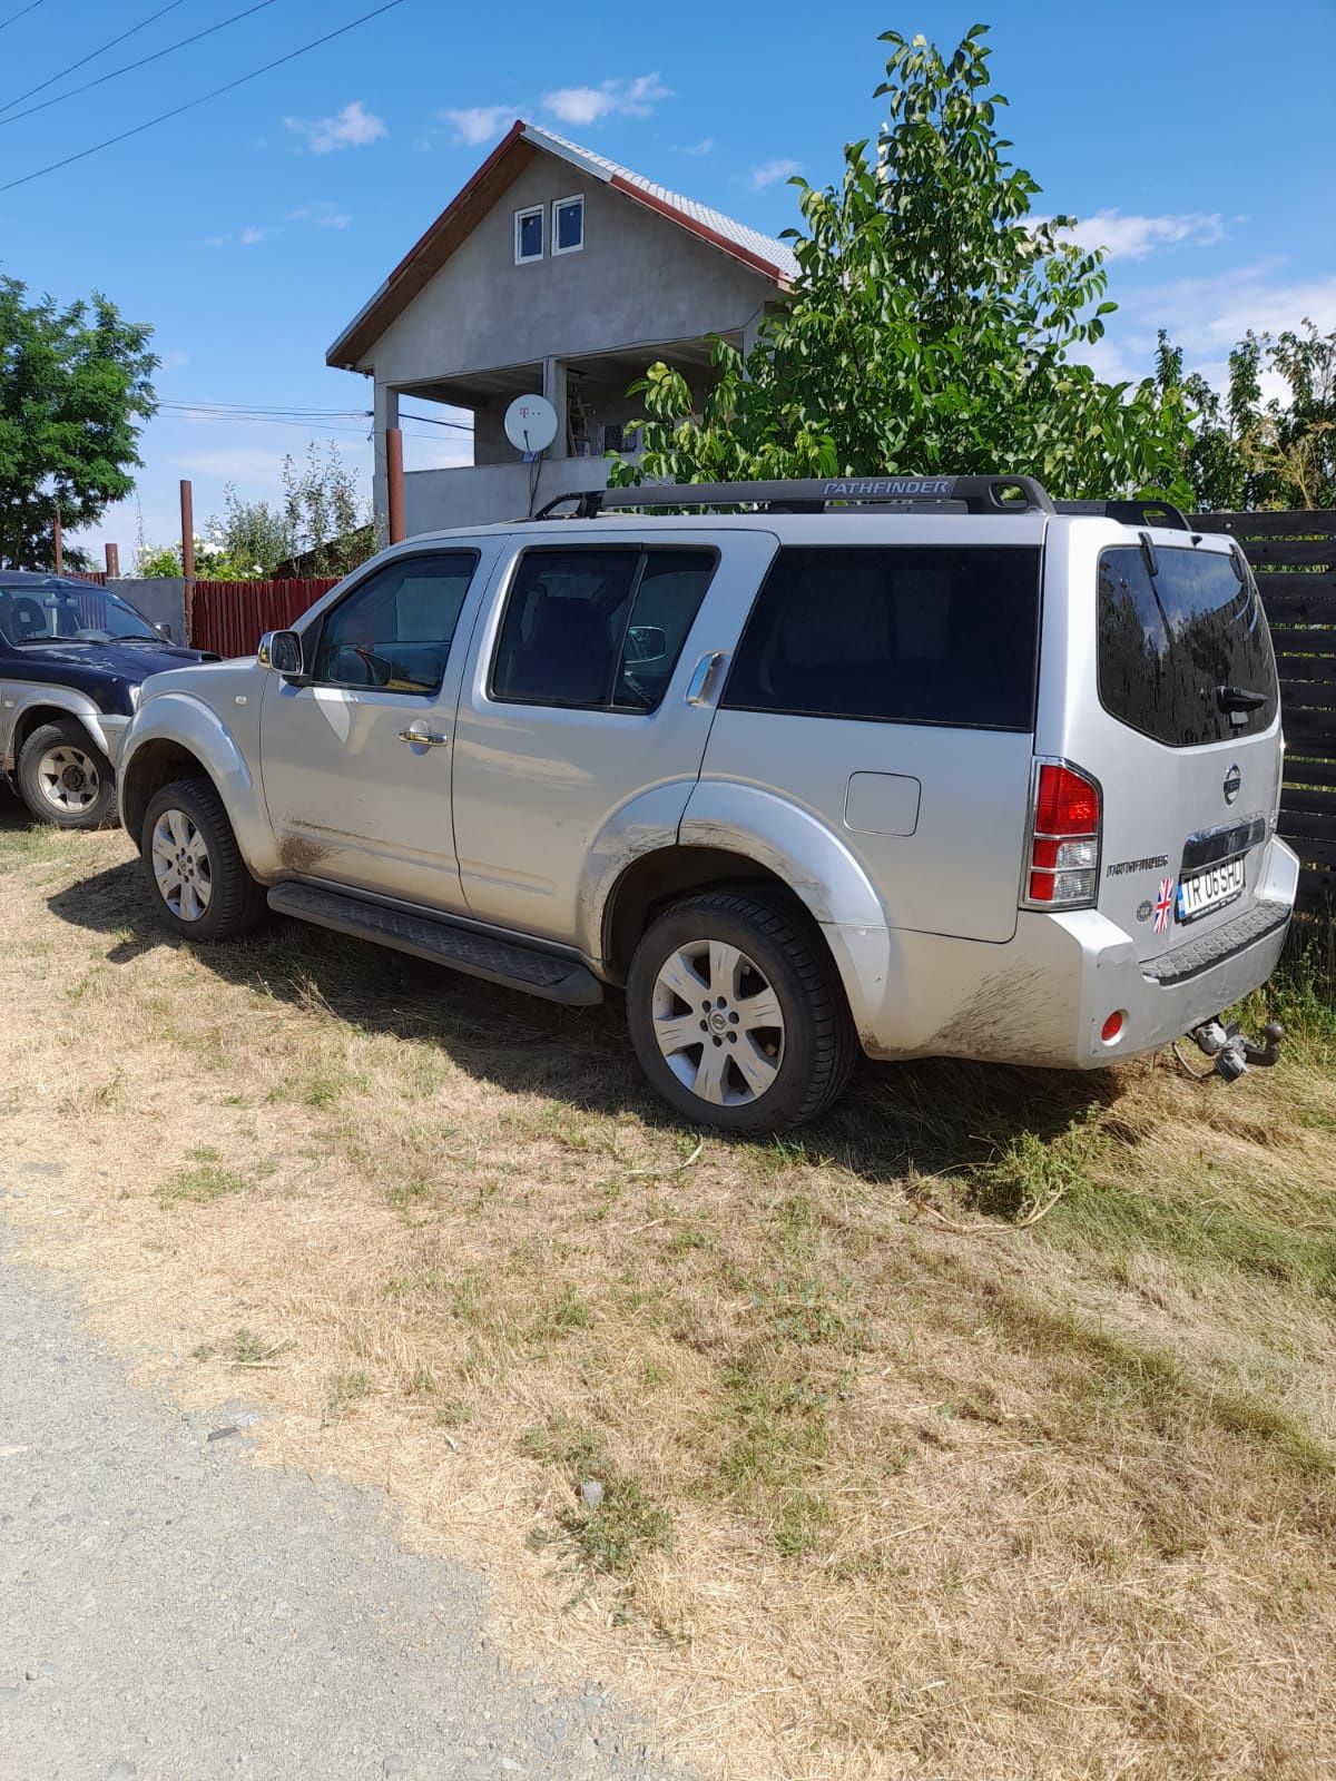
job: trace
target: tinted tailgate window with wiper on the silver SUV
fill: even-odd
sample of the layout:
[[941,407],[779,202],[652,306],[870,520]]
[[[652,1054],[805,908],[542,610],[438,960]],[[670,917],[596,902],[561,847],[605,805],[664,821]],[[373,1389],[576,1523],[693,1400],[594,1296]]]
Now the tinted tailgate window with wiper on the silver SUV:
[[[1133,545],[1099,557],[1099,702],[1170,748],[1256,736],[1275,720],[1272,639],[1250,572],[1218,550]],[[1222,687],[1259,695],[1227,709]]]

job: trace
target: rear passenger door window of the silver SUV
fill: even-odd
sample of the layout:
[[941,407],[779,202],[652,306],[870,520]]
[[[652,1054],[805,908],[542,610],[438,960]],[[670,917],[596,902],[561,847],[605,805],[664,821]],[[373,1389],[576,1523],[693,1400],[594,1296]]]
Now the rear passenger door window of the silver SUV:
[[525,550],[492,664],[492,698],[656,711],[718,556],[593,545]]

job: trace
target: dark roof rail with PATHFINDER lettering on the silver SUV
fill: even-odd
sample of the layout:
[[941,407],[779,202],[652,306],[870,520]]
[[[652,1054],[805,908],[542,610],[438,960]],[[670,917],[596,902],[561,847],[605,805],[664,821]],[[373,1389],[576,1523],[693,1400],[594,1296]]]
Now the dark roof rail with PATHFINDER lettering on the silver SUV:
[[[575,502],[575,511],[559,509]],[[857,506],[964,506],[967,513],[1055,513],[1031,476],[830,476],[791,483],[641,483],[558,495],[540,520],[591,520],[625,508],[761,508],[766,513],[825,513]]]

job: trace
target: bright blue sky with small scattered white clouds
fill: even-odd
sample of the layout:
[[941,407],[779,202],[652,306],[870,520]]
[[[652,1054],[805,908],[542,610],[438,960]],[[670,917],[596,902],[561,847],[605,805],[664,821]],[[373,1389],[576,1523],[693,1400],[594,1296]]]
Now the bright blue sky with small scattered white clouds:
[[[194,46],[27,112],[153,55],[255,0],[0,0],[0,185],[20,180],[358,18],[383,0],[265,0]],[[162,12],[84,68],[25,91]],[[1247,326],[1336,328],[1331,69],[1336,0],[1176,0],[1078,7],[627,5],[465,7],[403,0],[337,41],[69,167],[0,192],[0,269],[61,299],[105,290],[150,321],[169,403],[365,410],[326,346],[458,191],[511,118],[778,233],[784,183],[837,175],[875,132],[885,28],[953,45],[990,18],[1006,134],[1044,212],[1115,251],[1120,312],[1101,369],[1142,374],[1156,326],[1218,370]],[[4,23],[12,20],[12,23]],[[224,481],[273,495],[285,451],[333,440],[365,477],[365,422],[159,415],[143,438],[150,541]],[[408,422],[408,463],[449,435]],[[337,431],[338,429],[338,431]],[[134,550],[134,502],[89,534]]]

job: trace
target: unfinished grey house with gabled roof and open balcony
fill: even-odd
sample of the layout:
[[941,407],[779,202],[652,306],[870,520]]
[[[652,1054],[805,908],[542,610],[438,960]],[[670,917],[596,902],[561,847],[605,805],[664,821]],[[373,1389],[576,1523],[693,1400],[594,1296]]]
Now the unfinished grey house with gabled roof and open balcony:
[[[404,476],[408,533],[509,520],[604,486],[627,385],[664,358],[704,394],[705,335],[748,347],[794,272],[782,242],[517,119],[326,354],[376,383],[378,516],[403,399],[474,419],[470,465]],[[504,415],[538,392],[559,426],[529,465]]]

